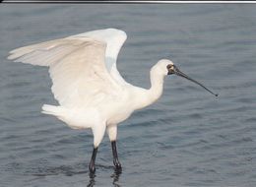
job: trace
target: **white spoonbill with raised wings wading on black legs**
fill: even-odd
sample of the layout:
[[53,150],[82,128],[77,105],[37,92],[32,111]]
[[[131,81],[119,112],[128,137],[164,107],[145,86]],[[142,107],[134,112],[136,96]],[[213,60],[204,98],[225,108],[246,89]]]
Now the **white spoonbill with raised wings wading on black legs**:
[[53,115],[74,129],[92,129],[91,173],[96,171],[96,153],[105,130],[111,142],[113,164],[116,169],[122,168],[116,149],[117,124],[135,110],[157,101],[165,76],[186,78],[214,94],[168,59],[161,59],[152,67],[150,89],[127,83],[116,68],[126,38],[125,31],[116,29],[88,31],[20,47],[8,56],[14,62],[49,67],[51,91],[59,105],[43,104],[42,113]]

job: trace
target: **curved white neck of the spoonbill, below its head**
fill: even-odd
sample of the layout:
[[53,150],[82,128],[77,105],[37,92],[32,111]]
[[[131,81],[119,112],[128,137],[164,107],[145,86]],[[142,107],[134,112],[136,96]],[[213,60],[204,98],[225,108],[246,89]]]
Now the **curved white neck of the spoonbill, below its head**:
[[138,107],[140,109],[151,105],[160,98],[163,90],[163,78],[164,75],[159,74],[154,69],[151,70],[151,88],[149,90],[144,90],[141,96],[138,96]]

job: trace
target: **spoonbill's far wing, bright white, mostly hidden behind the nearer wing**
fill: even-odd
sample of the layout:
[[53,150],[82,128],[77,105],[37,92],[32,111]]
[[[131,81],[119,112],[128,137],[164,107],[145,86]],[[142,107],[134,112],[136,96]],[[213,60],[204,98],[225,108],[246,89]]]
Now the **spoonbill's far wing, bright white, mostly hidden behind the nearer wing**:
[[125,42],[127,35],[125,31],[116,29],[96,30],[88,31],[76,35],[71,35],[71,38],[91,37],[94,39],[102,40],[106,42],[105,51],[105,65],[111,75],[111,77],[121,85],[127,85],[128,83],[122,78],[116,68],[116,61],[118,53]]

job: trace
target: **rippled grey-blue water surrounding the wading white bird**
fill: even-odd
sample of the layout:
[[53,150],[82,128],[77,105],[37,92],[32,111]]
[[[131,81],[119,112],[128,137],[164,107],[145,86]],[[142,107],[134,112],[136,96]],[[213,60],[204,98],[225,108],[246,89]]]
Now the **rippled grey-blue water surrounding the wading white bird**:
[[[255,186],[256,5],[2,5],[0,7],[1,186]],[[107,137],[90,179],[90,131],[40,113],[56,103],[47,69],[11,63],[8,51],[84,31],[118,28],[128,40],[118,69],[150,87],[161,58],[219,93],[165,79],[154,105],[118,129],[123,165],[114,173]]]

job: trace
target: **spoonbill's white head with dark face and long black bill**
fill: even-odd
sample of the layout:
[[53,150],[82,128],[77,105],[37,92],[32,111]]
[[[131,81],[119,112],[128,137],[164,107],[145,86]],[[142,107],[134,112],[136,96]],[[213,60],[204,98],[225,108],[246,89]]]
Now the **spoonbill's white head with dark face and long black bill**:
[[[184,74],[183,72],[181,72],[174,64],[173,62],[171,62],[170,60],[167,59],[161,59],[157,66],[159,67],[159,71],[165,76],[165,75],[177,75],[179,77],[185,78],[199,86],[201,86],[202,88],[204,88],[206,91],[208,91],[211,94],[214,94],[212,91],[210,91],[209,89],[207,89],[203,84],[195,81],[194,79],[188,77],[186,74]],[[214,94],[215,96],[218,96],[218,94]]]

